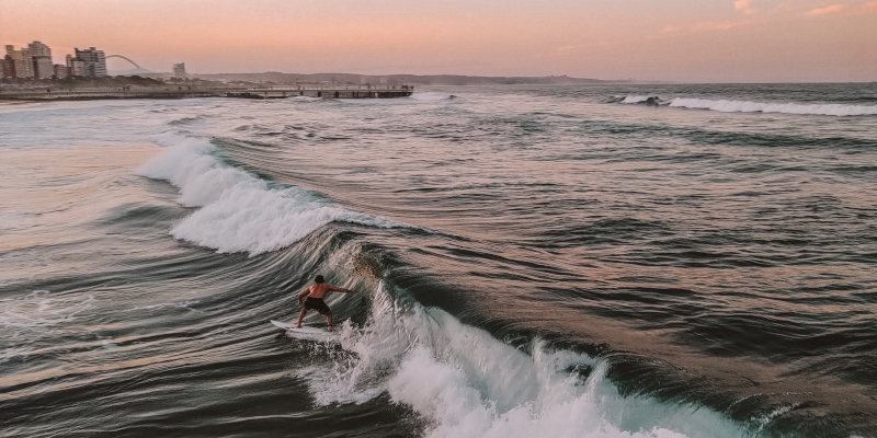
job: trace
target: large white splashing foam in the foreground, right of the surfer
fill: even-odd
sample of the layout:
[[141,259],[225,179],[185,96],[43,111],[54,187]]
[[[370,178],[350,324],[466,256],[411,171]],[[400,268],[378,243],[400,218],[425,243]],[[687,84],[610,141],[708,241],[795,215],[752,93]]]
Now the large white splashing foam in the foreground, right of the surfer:
[[380,393],[428,420],[428,437],[740,437],[707,408],[622,396],[606,361],[534,343],[504,344],[435,308],[394,302],[384,281],[366,324],[341,328],[331,371],[301,370],[319,405]]

